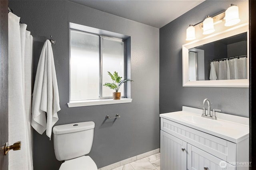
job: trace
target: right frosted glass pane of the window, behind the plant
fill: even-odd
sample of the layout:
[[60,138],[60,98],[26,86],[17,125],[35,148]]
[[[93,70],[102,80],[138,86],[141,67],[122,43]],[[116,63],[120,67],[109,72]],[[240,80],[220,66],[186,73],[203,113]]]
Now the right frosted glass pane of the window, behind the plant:
[[[124,42],[102,38],[102,84],[113,82],[108,71],[112,74],[116,71],[124,78]],[[102,97],[110,97],[113,92],[113,89],[102,87]],[[118,92],[124,96],[124,84]]]

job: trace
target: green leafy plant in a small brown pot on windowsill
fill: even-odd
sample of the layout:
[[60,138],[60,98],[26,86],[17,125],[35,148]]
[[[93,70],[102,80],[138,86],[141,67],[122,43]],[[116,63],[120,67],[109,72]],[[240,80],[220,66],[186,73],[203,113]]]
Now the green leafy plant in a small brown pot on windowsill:
[[103,86],[109,87],[110,89],[115,90],[115,92],[113,92],[113,99],[114,100],[120,100],[121,98],[121,92],[118,92],[120,86],[127,82],[127,81],[132,81],[130,79],[122,79],[122,77],[118,76],[118,72],[114,71],[114,74],[111,74],[108,71],[108,75],[111,77],[111,79],[113,80],[112,83],[105,83],[103,84]]

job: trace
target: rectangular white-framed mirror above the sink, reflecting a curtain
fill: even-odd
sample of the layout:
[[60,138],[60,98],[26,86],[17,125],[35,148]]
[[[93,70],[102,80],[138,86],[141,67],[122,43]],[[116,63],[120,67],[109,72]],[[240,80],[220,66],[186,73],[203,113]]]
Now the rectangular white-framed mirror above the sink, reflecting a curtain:
[[249,87],[248,23],[182,45],[188,87]]

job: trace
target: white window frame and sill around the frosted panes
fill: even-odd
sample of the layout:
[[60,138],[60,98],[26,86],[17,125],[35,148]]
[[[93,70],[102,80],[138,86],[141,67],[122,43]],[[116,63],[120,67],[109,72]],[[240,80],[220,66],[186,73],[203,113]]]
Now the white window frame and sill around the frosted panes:
[[[81,28],[81,29],[80,29]],[[88,26],[84,26],[84,25],[79,25],[79,24],[75,24],[75,23],[70,23],[70,27],[69,29],[69,48],[71,49],[71,31],[78,31],[81,33],[88,33],[90,35],[96,35],[99,36],[99,45],[101,47],[102,42],[101,40],[103,38],[106,39],[110,39],[110,40],[114,40],[114,41],[120,41],[124,43],[124,78],[130,78],[130,36],[127,35],[122,35],[119,33],[114,33],[114,32],[110,32],[110,31],[105,31],[105,30],[101,30],[101,29],[96,29],[93,27],[88,27]],[[86,31],[89,30],[89,31]],[[129,44],[127,44],[127,42],[129,42]],[[127,46],[128,45],[128,46]],[[71,50],[69,52],[70,56],[69,56],[69,61],[70,61],[70,69],[69,69],[69,78],[71,77]],[[129,56],[129,57],[128,57]],[[99,88],[100,88],[100,94],[99,94],[99,98],[98,99],[91,99],[91,100],[70,100],[71,99],[71,81],[70,86],[69,86],[69,103],[68,103],[68,107],[80,107],[80,106],[95,106],[95,105],[105,105],[105,104],[119,104],[119,103],[130,103],[132,102],[132,99],[130,98],[130,92],[131,92],[131,86],[130,83],[126,83],[124,84],[124,95],[122,95],[122,98],[120,100],[113,100],[112,97],[102,97],[102,87],[103,87],[103,82],[102,82],[102,52],[100,50],[99,53],[99,57],[100,57],[100,62],[99,62],[99,68],[100,68],[100,72],[99,72],[99,78],[100,78],[100,82],[99,82]],[[71,80],[71,78],[70,78]]]

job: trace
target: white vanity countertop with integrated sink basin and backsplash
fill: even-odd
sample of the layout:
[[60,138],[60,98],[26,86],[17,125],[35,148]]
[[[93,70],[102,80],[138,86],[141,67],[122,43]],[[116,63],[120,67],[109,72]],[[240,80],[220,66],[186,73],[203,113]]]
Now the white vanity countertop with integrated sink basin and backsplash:
[[216,113],[217,120],[213,120],[201,115],[202,109],[183,106],[182,111],[162,113],[160,117],[233,143],[239,143],[249,137],[249,118]]

